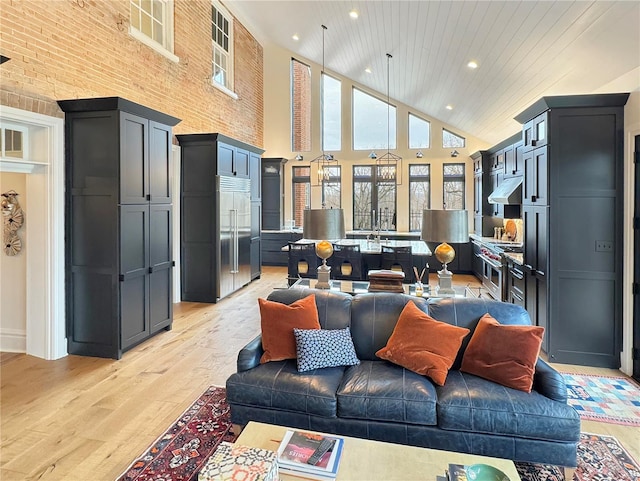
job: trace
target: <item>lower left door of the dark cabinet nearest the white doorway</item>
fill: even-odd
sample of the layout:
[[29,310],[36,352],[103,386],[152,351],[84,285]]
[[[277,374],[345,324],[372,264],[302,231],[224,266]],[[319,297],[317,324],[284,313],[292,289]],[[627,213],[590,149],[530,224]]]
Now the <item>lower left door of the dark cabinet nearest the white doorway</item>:
[[149,328],[149,207],[120,208],[120,347],[146,339]]

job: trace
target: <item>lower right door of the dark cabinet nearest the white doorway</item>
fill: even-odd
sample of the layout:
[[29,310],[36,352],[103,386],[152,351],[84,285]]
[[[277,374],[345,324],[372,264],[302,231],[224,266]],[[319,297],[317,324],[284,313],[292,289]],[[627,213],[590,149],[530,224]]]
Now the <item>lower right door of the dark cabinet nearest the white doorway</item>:
[[172,206],[149,208],[149,315],[151,333],[171,325],[173,319]]

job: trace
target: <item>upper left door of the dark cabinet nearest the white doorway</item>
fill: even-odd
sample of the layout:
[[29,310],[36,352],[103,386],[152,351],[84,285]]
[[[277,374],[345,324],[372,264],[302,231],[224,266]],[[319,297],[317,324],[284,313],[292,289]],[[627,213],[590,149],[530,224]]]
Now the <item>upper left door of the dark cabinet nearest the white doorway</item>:
[[120,203],[143,204],[149,193],[149,121],[120,113]]

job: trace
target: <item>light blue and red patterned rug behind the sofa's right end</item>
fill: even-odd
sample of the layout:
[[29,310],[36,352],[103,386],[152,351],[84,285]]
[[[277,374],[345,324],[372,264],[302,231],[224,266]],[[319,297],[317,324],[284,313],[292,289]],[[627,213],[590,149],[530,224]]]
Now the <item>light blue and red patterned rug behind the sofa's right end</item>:
[[581,419],[640,426],[640,387],[625,377],[562,374]]

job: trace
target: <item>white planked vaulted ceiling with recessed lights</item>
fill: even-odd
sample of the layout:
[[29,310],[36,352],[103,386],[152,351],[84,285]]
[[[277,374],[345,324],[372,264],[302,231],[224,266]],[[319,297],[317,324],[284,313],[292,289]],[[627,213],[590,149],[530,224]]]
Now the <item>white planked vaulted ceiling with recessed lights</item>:
[[636,0],[224,3],[261,43],[318,64],[326,25],[327,71],[383,95],[389,83],[392,99],[491,144],[542,96],[640,89]]

